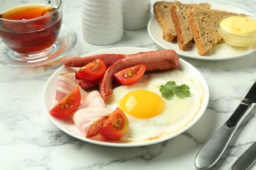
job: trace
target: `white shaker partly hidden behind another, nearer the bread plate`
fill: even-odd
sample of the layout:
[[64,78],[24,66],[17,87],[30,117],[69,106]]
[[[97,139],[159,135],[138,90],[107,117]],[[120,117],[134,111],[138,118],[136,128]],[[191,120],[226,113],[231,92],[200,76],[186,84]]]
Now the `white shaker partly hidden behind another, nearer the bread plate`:
[[121,5],[124,29],[146,27],[150,19],[150,0],[121,0]]

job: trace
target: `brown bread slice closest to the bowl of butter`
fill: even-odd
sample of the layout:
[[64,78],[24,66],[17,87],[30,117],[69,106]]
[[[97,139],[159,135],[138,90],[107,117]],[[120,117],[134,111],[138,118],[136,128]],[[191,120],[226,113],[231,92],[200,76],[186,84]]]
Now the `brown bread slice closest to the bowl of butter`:
[[224,42],[217,30],[218,22],[226,15],[234,15],[223,10],[188,10],[188,22],[200,56],[206,55],[215,45]]

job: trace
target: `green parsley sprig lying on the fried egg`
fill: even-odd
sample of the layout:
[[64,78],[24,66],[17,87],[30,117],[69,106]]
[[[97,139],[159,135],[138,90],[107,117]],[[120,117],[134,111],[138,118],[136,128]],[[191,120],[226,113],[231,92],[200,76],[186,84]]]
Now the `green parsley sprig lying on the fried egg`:
[[177,86],[175,81],[169,81],[165,85],[160,86],[160,92],[163,98],[170,100],[177,95],[180,98],[190,97],[190,88],[186,84]]

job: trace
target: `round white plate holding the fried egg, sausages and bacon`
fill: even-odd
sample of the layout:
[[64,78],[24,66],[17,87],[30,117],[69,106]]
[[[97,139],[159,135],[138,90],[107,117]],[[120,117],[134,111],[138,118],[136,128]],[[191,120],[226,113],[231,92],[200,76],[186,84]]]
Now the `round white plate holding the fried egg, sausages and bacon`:
[[[106,54],[106,53],[116,53],[116,54],[132,54],[137,52],[144,52],[144,51],[150,51],[151,49],[148,48],[133,48],[133,47],[126,47],[126,48],[109,48],[106,50],[99,50],[96,52],[91,52],[89,54],[86,54],[85,56],[91,56],[94,54]],[[176,137],[177,135],[181,134],[182,132],[186,131],[188,128],[190,128],[193,124],[195,124],[200,117],[203,115],[203,112],[205,112],[205,109],[207,107],[208,101],[209,101],[209,89],[207,86],[207,83],[201,73],[190,63],[184,61],[183,59],[180,59],[179,67],[177,68],[181,71],[184,71],[184,73],[194,76],[195,78],[198,78],[198,80],[201,82],[204,96],[203,96],[203,102],[202,107],[200,108],[198,114],[196,117],[187,124],[184,128],[180,129],[179,131],[175,133],[171,133],[168,136],[162,137],[160,139],[152,140],[152,141],[145,141],[140,143],[111,143],[111,142],[102,142],[102,141],[95,141],[92,139],[87,139],[84,137],[83,133],[78,129],[77,126],[75,126],[74,122],[70,120],[60,120],[57,118],[54,118],[49,114],[49,110],[51,110],[54,107],[54,97],[55,97],[55,91],[56,91],[56,78],[60,73],[66,73],[68,71],[72,71],[69,67],[62,66],[58,70],[53,73],[53,75],[49,78],[47,83],[45,84],[45,88],[43,90],[43,105],[45,108],[45,111],[47,113],[47,116],[53,121],[53,123],[58,126],[62,131],[65,133],[68,133],[68,135],[71,135],[72,137],[75,137],[77,139],[80,139],[82,141],[86,141],[88,143],[94,143],[94,144],[100,144],[105,146],[120,146],[120,147],[130,147],[130,146],[144,146],[149,144],[155,144],[160,143],[163,141],[166,141],[168,139],[171,139],[173,137]]]

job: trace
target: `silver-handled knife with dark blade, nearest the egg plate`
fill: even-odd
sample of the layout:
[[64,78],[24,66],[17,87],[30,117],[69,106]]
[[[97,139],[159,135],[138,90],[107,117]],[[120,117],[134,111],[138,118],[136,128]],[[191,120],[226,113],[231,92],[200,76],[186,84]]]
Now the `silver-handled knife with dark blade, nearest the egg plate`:
[[223,126],[202,146],[196,155],[195,165],[198,169],[209,169],[221,158],[234,133],[256,105],[256,82]]

